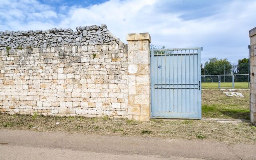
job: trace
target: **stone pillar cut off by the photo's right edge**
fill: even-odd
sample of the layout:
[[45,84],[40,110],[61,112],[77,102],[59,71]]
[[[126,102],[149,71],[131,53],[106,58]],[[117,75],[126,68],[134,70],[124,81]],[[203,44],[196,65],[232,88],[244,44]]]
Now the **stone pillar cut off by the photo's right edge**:
[[250,119],[256,124],[256,27],[249,31],[250,37]]

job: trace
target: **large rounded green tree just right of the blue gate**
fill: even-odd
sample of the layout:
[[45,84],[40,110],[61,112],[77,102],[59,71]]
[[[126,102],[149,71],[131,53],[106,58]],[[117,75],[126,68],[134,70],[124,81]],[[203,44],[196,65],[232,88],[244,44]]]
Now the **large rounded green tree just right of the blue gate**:
[[205,62],[204,68],[208,74],[232,74],[232,64],[228,59],[210,58],[209,62]]

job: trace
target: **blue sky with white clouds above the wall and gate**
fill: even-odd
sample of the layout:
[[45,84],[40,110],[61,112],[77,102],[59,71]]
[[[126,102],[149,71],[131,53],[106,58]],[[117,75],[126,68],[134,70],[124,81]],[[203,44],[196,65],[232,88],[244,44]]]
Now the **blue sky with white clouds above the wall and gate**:
[[126,42],[149,32],[166,48],[203,47],[202,62],[248,57],[256,0],[0,0],[0,30],[45,30],[106,24]]

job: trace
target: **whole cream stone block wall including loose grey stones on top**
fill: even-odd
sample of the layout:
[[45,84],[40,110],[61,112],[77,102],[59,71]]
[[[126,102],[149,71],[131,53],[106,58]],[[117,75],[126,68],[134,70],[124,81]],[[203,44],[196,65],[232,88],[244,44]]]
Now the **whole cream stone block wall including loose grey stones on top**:
[[106,25],[0,37],[1,113],[128,116],[127,46]]

